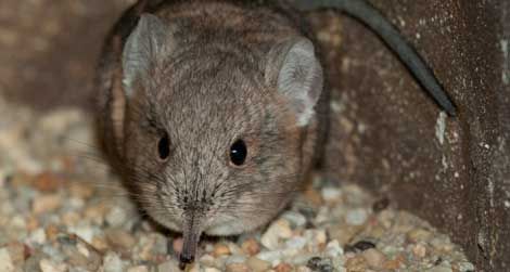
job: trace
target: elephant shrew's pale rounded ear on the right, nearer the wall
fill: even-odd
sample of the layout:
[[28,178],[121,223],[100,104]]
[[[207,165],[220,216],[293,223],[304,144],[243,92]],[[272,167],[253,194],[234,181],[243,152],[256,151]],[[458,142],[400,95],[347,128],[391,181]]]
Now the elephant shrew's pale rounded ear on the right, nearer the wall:
[[278,92],[288,99],[296,113],[297,126],[307,126],[323,87],[322,66],[311,41],[297,38],[271,49],[266,82],[276,83]]

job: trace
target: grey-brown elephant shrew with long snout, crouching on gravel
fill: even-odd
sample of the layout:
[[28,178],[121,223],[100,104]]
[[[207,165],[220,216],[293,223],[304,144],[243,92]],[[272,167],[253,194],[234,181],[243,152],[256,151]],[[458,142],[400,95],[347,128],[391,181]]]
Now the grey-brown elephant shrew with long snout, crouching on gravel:
[[140,1],[98,76],[103,145],[141,207],[183,233],[182,263],[202,233],[266,224],[321,156],[323,70],[284,1]]

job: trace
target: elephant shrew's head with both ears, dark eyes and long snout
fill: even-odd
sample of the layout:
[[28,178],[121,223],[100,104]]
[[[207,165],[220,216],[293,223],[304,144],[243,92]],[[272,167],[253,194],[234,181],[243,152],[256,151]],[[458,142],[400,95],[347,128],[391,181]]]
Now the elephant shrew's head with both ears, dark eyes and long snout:
[[322,68],[303,37],[254,53],[184,44],[176,31],[141,16],[124,47],[123,92],[114,95],[122,103],[111,114],[137,200],[182,231],[194,252],[201,233],[258,228],[299,190]]

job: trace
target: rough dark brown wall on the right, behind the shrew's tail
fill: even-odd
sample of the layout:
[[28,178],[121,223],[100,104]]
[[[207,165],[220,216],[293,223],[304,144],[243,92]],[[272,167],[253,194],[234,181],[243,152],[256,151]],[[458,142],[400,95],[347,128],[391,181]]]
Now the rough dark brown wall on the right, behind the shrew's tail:
[[372,2],[430,63],[459,113],[442,116],[372,33],[343,18],[342,49],[329,59],[330,176],[431,220],[480,270],[508,270],[510,3]]

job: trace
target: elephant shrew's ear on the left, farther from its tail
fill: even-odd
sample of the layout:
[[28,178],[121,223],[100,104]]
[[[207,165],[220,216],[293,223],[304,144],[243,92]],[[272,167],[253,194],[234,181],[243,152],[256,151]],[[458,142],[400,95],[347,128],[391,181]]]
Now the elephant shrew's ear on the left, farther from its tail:
[[152,65],[171,50],[171,29],[152,14],[142,14],[135,30],[127,38],[123,51],[123,86],[131,98],[136,80],[149,77]]

